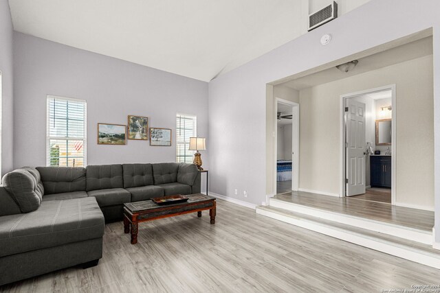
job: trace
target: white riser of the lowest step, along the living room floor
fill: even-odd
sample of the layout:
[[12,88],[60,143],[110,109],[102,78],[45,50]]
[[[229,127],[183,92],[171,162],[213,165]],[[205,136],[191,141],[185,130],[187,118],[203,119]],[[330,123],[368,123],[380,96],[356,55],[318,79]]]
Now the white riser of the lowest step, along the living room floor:
[[275,213],[274,211],[267,211],[267,209],[264,208],[257,208],[256,213],[324,235],[342,239],[353,244],[358,244],[360,246],[381,251],[383,253],[388,253],[388,255],[394,255],[396,257],[401,257],[402,259],[422,263],[432,268],[440,268],[440,257],[434,253],[427,253],[426,251],[417,250],[416,248],[412,248],[410,246],[404,246],[395,242],[389,242],[384,239],[363,235],[361,233],[355,233],[353,231],[347,231],[342,228],[325,225],[318,222],[289,217],[287,215]]

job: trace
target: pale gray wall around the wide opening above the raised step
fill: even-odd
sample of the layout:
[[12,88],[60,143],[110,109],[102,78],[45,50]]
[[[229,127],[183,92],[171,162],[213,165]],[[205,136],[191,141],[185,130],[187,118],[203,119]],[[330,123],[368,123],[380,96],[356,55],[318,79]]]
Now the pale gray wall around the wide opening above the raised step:
[[[434,76],[440,75],[440,2],[372,0],[209,84],[210,190],[234,196],[247,189],[254,204],[266,196],[266,84],[433,27]],[[390,12],[393,12],[390,14]],[[373,17],[368,17],[373,16]],[[410,19],[411,21],[408,21]],[[333,36],[320,45],[323,34]],[[434,80],[435,144],[440,145],[440,79]],[[224,121],[224,122],[223,122]],[[234,142],[234,143],[228,143]],[[435,224],[440,230],[440,152],[435,153]],[[239,166],[239,167],[235,167]],[[339,172],[338,169],[331,172]],[[437,235],[440,242],[440,233]]]

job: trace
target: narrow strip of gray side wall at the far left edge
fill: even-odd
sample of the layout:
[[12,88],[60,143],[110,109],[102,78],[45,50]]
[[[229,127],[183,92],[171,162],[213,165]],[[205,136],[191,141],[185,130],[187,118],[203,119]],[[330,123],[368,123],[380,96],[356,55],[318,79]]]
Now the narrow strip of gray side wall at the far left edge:
[[9,4],[0,1],[0,71],[2,76],[1,100],[1,171],[9,172],[13,167],[13,71],[12,71],[12,20]]

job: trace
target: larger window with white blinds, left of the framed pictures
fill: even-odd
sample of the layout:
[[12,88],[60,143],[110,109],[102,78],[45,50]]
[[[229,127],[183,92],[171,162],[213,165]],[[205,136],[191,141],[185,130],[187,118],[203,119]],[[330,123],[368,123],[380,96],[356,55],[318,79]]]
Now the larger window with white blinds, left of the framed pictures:
[[87,104],[81,99],[47,96],[47,165],[85,167]]

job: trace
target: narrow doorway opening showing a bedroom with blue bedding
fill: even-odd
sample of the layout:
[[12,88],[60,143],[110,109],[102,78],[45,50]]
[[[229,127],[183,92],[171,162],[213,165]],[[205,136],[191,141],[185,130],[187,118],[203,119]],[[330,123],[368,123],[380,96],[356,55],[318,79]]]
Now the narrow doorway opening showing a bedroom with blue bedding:
[[298,190],[299,104],[276,98],[276,194]]

